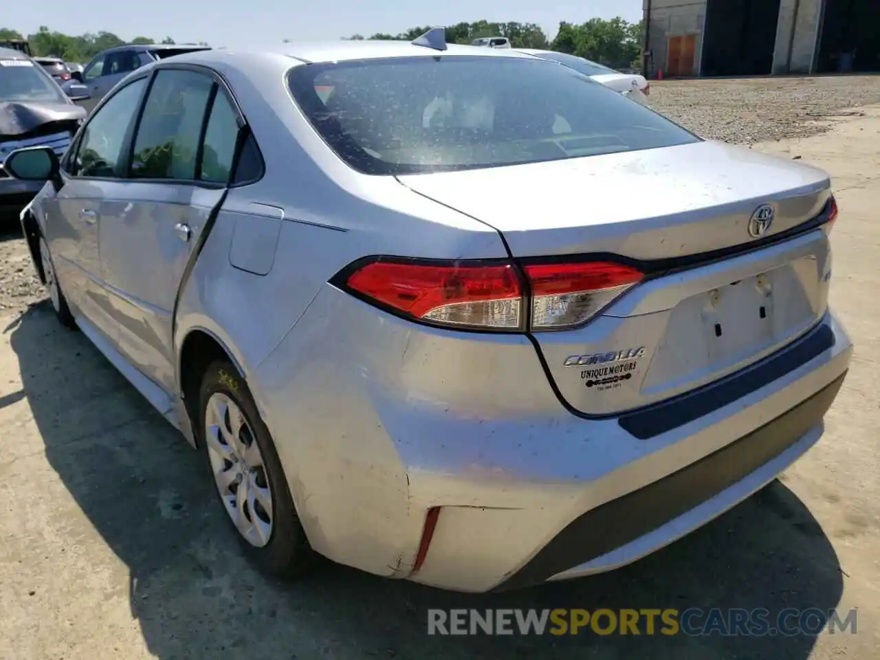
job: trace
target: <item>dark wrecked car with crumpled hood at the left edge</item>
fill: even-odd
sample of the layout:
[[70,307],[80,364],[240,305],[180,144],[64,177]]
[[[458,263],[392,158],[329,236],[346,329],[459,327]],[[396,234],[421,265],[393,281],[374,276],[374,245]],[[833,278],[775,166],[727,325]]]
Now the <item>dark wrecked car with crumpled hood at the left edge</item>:
[[61,87],[22,51],[0,48],[0,216],[5,220],[33,199],[39,181],[12,178],[4,160],[22,147],[47,146],[61,156],[85,118]]

